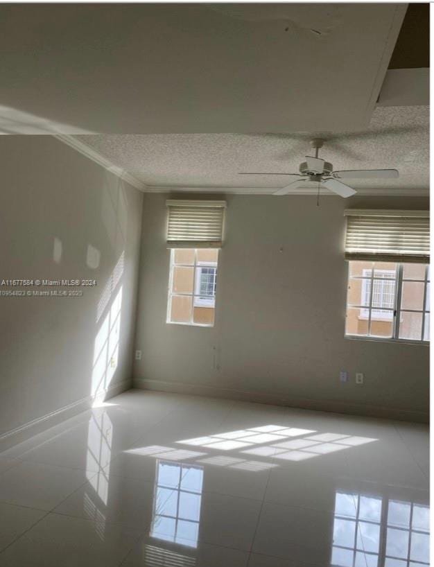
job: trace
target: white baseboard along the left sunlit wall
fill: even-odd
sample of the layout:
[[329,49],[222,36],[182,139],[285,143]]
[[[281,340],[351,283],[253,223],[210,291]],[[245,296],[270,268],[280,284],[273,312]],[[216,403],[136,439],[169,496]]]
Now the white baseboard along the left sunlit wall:
[[42,433],[43,431],[62,423],[62,421],[66,421],[81,412],[89,410],[89,408],[92,408],[92,404],[97,398],[101,401],[105,401],[121,394],[121,392],[125,392],[125,390],[130,390],[130,387],[131,381],[123,380],[122,382],[118,382],[113,386],[110,386],[107,390],[103,390],[97,394],[97,396],[86,396],[83,399],[64,405],[63,408],[58,408],[58,410],[54,410],[42,417],[37,417],[37,419],[28,421],[26,424],[16,427],[15,429],[6,431],[6,433],[0,435],[0,453],[1,451],[6,451],[6,449],[13,445],[17,445],[18,443],[26,441],[26,439],[30,439],[33,435]]

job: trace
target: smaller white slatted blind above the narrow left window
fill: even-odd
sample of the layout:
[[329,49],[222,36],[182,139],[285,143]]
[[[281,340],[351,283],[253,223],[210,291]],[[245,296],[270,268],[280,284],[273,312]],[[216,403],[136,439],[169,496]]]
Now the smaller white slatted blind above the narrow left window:
[[168,200],[169,248],[220,248],[225,201]]

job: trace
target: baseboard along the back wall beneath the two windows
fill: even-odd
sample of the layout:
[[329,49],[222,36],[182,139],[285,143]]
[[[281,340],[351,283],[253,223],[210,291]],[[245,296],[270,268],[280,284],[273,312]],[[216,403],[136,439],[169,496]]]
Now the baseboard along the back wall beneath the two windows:
[[362,415],[365,417],[380,417],[395,419],[397,421],[415,421],[428,423],[429,413],[418,410],[403,410],[388,408],[381,405],[364,405],[336,400],[313,400],[304,398],[289,398],[266,394],[263,392],[246,392],[245,390],[232,390],[208,385],[196,385],[182,382],[165,382],[159,380],[142,380],[134,378],[132,386],[140,390],[153,390],[157,392],[172,392],[176,394],[190,394],[193,396],[209,396],[254,403],[268,403],[271,405],[284,405],[289,408],[302,408],[320,412],[333,412],[349,415]]

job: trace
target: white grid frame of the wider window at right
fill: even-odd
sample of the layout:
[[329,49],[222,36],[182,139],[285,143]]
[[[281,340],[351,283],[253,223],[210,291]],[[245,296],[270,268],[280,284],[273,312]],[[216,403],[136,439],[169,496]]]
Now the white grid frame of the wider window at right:
[[[426,309],[426,305],[427,305],[427,289],[428,289],[428,285],[431,283],[431,279],[430,275],[429,275],[429,270],[430,270],[430,264],[427,263],[425,265],[425,270],[424,270],[424,279],[409,279],[409,278],[404,278],[403,277],[403,270],[404,270],[404,265],[406,265],[406,262],[397,262],[396,265],[396,276],[394,278],[394,284],[395,284],[395,288],[394,288],[394,296],[395,296],[395,300],[394,300],[394,308],[393,309],[388,309],[385,308],[384,311],[390,311],[392,313],[392,318],[388,319],[388,318],[384,318],[382,320],[384,320],[385,322],[390,322],[392,321],[392,336],[391,337],[386,337],[386,336],[380,336],[380,335],[351,335],[347,333],[347,310],[348,308],[359,308],[361,310],[361,313],[363,311],[368,311],[369,316],[367,317],[368,320],[368,333],[370,333],[370,328],[371,328],[371,320],[377,320],[377,319],[372,319],[372,313],[375,311],[375,309],[372,307],[372,297],[373,297],[373,290],[374,290],[374,280],[375,279],[383,279],[383,278],[377,278],[375,277],[375,261],[373,262],[372,265],[372,270],[370,270],[371,272],[371,276],[370,278],[366,278],[362,276],[351,276],[350,275],[350,262],[357,262],[357,260],[350,260],[348,261],[348,273],[347,273],[347,299],[346,299],[346,303],[345,303],[345,333],[344,336],[347,339],[350,340],[373,340],[373,341],[380,341],[380,342],[401,342],[401,343],[406,343],[406,344],[424,344],[426,346],[429,346],[430,344],[430,339],[428,338],[428,340],[424,339],[424,335],[425,335],[425,320],[426,318],[428,318],[428,325],[429,325],[429,319],[431,318],[431,305],[429,306],[430,309],[427,310]],[[384,271],[384,270],[379,270],[379,271]],[[369,306],[361,306],[361,305],[355,305],[355,304],[349,304],[348,302],[348,297],[349,297],[349,282],[351,279],[359,279],[362,280],[362,284],[363,284],[363,280],[367,280],[370,279],[370,304]],[[410,281],[410,282],[419,282],[419,283],[423,283],[424,284],[424,293],[423,293],[423,299],[422,299],[422,309],[405,309],[405,308],[401,308],[401,299],[402,299],[402,288],[403,288],[403,283],[406,281]],[[363,293],[363,291],[362,291]],[[378,310],[377,310],[378,311]],[[399,338],[399,326],[403,320],[402,314],[403,313],[421,313],[422,314],[422,326],[421,326],[421,338],[420,339],[408,339],[408,338]],[[428,315],[428,317],[427,317]],[[365,318],[362,315],[363,318]]]

